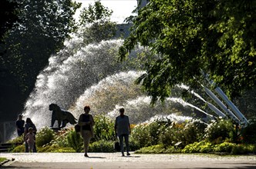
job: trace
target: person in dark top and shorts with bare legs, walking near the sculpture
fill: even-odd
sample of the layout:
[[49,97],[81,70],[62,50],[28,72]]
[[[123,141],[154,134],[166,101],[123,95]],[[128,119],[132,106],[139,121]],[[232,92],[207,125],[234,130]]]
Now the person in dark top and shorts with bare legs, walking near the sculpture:
[[91,138],[93,138],[93,125],[94,125],[94,120],[93,120],[93,115],[89,114],[90,108],[89,106],[84,107],[84,114],[81,114],[79,116],[78,124],[81,126],[80,134],[83,137],[83,145],[84,145],[84,151],[85,157],[89,157],[87,152],[88,152],[88,147],[89,147],[89,141]]

